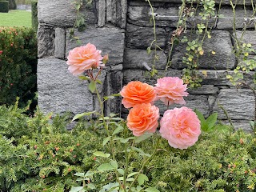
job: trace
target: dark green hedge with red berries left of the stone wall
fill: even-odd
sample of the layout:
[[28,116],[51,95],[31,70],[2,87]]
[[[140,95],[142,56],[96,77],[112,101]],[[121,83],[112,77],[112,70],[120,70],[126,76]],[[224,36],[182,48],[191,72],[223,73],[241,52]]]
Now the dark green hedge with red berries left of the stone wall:
[[35,96],[37,39],[32,28],[0,28],[0,105],[20,106]]

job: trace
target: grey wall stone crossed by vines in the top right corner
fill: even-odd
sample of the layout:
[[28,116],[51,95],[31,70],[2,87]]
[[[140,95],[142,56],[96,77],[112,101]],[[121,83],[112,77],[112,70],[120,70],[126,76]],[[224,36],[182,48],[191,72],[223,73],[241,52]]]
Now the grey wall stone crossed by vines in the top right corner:
[[[231,8],[222,8],[219,14],[223,14],[224,18],[218,18],[217,29],[220,30],[232,30],[234,27],[234,14]],[[250,17],[253,15],[253,10],[245,10],[243,6],[235,10],[235,26],[236,29],[242,29],[245,26],[247,28],[254,28],[254,22],[250,22]],[[248,18],[248,19],[246,19]]]

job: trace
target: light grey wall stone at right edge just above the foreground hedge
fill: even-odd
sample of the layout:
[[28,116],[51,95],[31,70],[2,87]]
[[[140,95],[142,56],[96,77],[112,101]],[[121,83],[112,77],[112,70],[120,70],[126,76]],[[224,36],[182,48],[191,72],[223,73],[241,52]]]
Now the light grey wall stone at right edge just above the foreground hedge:
[[218,105],[223,106],[231,119],[254,119],[254,95],[251,90],[222,89],[214,104],[214,110],[218,112],[218,118],[226,119],[226,115]]

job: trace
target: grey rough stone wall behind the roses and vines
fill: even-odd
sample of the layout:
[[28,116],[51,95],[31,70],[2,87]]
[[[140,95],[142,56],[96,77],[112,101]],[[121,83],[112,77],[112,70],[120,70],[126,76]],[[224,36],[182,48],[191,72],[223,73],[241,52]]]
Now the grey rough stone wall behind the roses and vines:
[[[71,111],[74,114],[84,111],[97,110],[95,95],[86,90],[86,82],[81,82],[67,71],[66,56],[68,51],[78,46],[69,37],[69,30],[74,26],[75,10],[72,0],[38,0],[38,104],[45,113],[62,113]],[[159,74],[181,77],[182,56],[186,45],[180,43],[174,47],[172,66],[164,72],[170,49],[170,37],[178,21],[179,0],[151,0],[156,18],[156,33],[158,46],[164,51],[158,51],[159,60],[156,68]],[[216,1],[218,2],[218,1]],[[218,118],[227,122],[226,115],[219,107],[222,106],[234,122],[234,126],[250,129],[248,120],[254,118],[254,96],[252,91],[236,90],[226,79],[227,68],[232,70],[237,65],[234,56],[232,39],[233,13],[230,1],[222,1],[221,13],[224,18],[210,21],[212,38],[203,44],[204,54],[200,59],[199,73],[203,78],[202,87],[190,90],[185,98],[187,106],[195,107],[207,117],[213,111],[218,112]],[[243,1],[237,1],[236,30],[242,30],[245,18],[252,10],[248,8],[244,15]],[[251,1],[246,1],[248,6]],[[254,1],[255,3],[255,1]],[[218,7],[218,5],[216,5]],[[152,65],[153,55],[146,48],[154,39],[152,22],[150,22],[150,6],[145,0],[95,0],[91,7],[82,10],[86,15],[86,30],[75,31],[82,45],[91,42],[109,54],[110,62],[102,73],[102,95],[118,93],[123,85],[133,80],[149,82],[154,85],[155,78],[146,75],[142,62]],[[166,17],[168,16],[168,17]],[[190,28],[201,22],[198,17],[187,20],[186,33]],[[251,30],[246,31],[245,41],[256,47],[256,31],[253,25],[247,25]],[[240,34],[241,35],[241,34]],[[216,54],[210,54],[214,51]],[[250,81],[252,75],[248,75]],[[166,106],[158,103],[161,111]],[[106,103],[106,113],[120,112],[120,98]]]

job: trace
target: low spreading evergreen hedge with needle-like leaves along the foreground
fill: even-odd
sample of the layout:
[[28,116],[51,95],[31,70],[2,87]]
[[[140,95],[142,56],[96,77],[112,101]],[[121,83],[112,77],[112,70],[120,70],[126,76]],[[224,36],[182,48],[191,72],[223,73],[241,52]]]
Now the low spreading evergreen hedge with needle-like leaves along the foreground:
[[[95,186],[88,191],[96,192],[114,182],[111,170],[76,181],[75,173],[95,170],[106,161],[94,155],[108,152],[107,147],[102,149],[106,134],[99,122],[78,122],[73,130],[66,130],[68,116],[52,120],[40,112],[34,118],[23,112],[17,103],[0,106],[0,190],[69,191],[86,182]],[[142,186],[159,191],[254,191],[256,139],[242,131],[233,133],[226,126],[218,128],[218,133],[202,133],[187,150],[174,149],[160,139],[157,154],[142,171],[149,179]],[[134,147],[151,153],[153,142],[152,137]],[[119,167],[125,166],[123,145],[116,142]],[[129,172],[136,172],[145,157],[136,150],[131,155]]]

